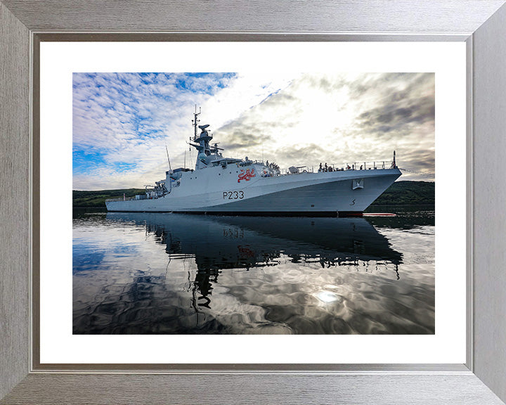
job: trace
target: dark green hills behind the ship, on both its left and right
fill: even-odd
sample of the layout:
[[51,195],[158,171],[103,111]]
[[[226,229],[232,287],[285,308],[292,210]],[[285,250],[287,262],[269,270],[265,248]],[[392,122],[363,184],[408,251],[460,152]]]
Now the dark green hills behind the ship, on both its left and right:
[[[103,207],[107,198],[134,197],[143,194],[142,188],[119,190],[72,191],[74,207]],[[434,183],[429,181],[396,181],[372,205],[433,205]]]

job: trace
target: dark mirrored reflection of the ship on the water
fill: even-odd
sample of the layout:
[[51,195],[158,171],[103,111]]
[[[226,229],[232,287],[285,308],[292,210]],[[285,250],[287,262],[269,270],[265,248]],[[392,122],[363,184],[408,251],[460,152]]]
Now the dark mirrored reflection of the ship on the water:
[[[402,254],[363,218],[208,217],[188,214],[109,213],[108,221],[143,225],[166,252],[195,259],[188,285],[192,305],[208,307],[223,269],[275,266],[281,257],[293,263],[330,266],[388,265],[398,276]],[[188,276],[190,276],[188,274]],[[197,296],[200,294],[200,296]]]

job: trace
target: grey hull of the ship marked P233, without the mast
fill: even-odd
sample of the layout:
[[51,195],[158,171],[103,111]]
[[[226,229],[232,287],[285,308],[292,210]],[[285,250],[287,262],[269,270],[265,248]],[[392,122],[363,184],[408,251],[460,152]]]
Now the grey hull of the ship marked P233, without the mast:
[[401,176],[397,168],[344,170],[255,176],[240,183],[237,173],[221,167],[186,172],[181,186],[171,187],[163,197],[108,201],[106,205],[111,212],[358,214]]

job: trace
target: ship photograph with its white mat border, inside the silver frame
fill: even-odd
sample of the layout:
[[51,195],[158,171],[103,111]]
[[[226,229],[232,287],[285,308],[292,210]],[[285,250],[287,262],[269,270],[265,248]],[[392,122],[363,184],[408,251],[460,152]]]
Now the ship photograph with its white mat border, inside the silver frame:
[[[465,249],[465,44],[43,42],[40,67],[41,367],[202,367],[122,349],[202,335],[209,364],[465,362],[465,258],[438,248]],[[436,166],[462,175],[436,175],[434,206]],[[401,171],[402,207],[368,207]],[[165,179],[142,190],[149,172]],[[72,246],[55,183],[81,201]]]

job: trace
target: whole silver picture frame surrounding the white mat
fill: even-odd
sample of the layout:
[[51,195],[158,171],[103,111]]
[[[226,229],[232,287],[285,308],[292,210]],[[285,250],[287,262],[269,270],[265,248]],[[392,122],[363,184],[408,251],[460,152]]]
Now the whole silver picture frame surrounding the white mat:
[[[0,0],[0,404],[503,404],[505,2]],[[38,46],[83,40],[465,42],[466,363],[41,364]]]

